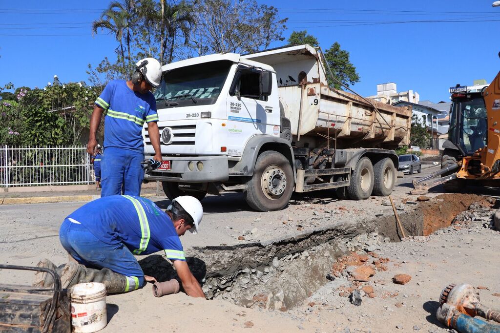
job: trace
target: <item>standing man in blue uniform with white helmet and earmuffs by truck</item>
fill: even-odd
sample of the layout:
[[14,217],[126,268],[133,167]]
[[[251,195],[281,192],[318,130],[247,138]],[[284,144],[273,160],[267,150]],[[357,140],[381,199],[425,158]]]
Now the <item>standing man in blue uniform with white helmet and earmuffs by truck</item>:
[[155,161],[161,162],[156,101],[151,93],[161,81],[158,60],[145,58],[136,63],[131,79],[112,80],[95,100],[90,117],[87,152],[95,155],[95,134],[102,113],[104,117],[104,150],[101,165],[101,197],[114,194],[140,195],[144,171],[142,126],[147,123]]

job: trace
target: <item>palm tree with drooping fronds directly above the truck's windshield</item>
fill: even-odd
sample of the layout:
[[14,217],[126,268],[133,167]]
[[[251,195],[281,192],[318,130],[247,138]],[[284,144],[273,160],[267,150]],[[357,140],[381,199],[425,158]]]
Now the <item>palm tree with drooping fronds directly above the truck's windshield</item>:
[[168,63],[173,59],[173,46],[175,43],[175,35],[177,31],[184,37],[184,45],[189,41],[190,31],[196,23],[195,17],[192,14],[193,6],[181,0],[179,3],[167,4],[166,0],[160,0],[159,11],[156,12],[152,19],[158,24],[160,31],[160,61],[163,62],[168,39],[170,39],[170,52],[168,55]]

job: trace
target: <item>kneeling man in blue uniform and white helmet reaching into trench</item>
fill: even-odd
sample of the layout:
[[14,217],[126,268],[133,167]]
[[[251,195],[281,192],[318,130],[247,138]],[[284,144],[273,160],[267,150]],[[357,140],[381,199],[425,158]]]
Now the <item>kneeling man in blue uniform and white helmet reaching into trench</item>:
[[[146,281],[154,281],[144,275],[134,254],[164,250],[184,291],[193,297],[204,297],[187,266],[179,239],[187,230],[197,233],[202,215],[201,203],[189,195],[174,199],[166,212],[140,196],[105,196],[76,209],[60,226],[60,242],[77,263],[56,267],[43,259],[38,266],[55,270],[63,288],[101,282],[110,293],[127,292],[141,288]],[[37,273],[34,285],[52,284],[49,274]]]

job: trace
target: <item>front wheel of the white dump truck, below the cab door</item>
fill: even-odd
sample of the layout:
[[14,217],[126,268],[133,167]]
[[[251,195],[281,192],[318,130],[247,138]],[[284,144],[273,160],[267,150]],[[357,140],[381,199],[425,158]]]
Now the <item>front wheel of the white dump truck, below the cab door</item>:
[[282,209],[293,192],[293,169],[283,154],[264,151],[246,185],[243,195],[250,207],[258,211]]

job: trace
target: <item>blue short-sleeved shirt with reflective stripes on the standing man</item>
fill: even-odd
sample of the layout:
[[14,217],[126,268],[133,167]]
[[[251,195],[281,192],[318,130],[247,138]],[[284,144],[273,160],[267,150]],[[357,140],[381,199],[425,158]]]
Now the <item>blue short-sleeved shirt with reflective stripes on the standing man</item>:
[[144,151],[142,125],[158,121],[156,100],[151,92],[131,90],[125,80],[112,80],[95,100],[105,110],[104,147]]

